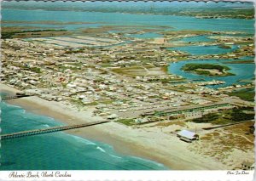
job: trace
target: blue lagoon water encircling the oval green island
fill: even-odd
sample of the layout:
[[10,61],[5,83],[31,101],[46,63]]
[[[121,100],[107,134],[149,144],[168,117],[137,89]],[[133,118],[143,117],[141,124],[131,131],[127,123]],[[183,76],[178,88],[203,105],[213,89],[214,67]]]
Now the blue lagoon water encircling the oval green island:
[[[171,63],[168,67],[168,71],[172,74],[177,76],[183,76],[188,80],[195,80],[195,79],[205,79],[207,81],[218,80],[224,81],[225,84],[220,84],[216,86],[212,86],[211,88],[223,88],[230,86],[234,83],[242,84],[246,82],[238,82],[240,80],[245,79],[253,79],[254,78],[254,64],[224,64],[224,62],[232,61],[232,59],[223,59],[223,60],[216,60],[216,59],[207,59],[207,60],[189,60],[189,61],[178,61],[176,63]],[[216,65],[224,65],[230,68],[230,73],[236,74],[236,76],[203,76],[197,75],[195,73],[190,73],[187,71],[182,71],[181,68],[183,65],[186,64],[216,64]]]

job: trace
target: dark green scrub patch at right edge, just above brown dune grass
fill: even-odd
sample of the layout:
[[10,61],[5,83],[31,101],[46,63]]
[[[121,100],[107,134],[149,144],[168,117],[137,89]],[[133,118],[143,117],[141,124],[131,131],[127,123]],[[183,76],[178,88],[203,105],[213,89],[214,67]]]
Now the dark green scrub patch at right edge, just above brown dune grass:
[[242,122],[254,119],[253,107],[239,107],[231,110],[223,110],[218,113],[211,113],[201,118],[193,119],[196,123],[212,123],[212,124],[228,124],[234,122]]

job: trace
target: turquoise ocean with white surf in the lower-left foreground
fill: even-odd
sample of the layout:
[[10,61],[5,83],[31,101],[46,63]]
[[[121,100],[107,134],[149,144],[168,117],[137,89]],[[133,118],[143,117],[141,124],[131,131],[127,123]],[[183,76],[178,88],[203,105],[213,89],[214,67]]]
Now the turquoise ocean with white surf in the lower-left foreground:
[[[0,103],[3,133],[63,125],[47,116]],[[1,141],[0,170],[165,170],[154,161],[116,153],[108,144],[66,133]]]

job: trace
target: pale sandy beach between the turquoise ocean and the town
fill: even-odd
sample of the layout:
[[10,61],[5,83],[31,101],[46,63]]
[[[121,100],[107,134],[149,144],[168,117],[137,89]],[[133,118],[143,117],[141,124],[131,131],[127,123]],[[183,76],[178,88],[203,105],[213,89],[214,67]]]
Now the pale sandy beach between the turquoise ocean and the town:
[[[0,84],[1,92],[16,93],[16,88]],[[18,105],[32,113],[49,116],[56,122],[79,124],[99,121],[102,117],[90,116],[90,110],[78,111],[72,106],[60,102],[47,101],[36,96],[12,99],[10,105]],[[86,121],[85,121],[86,120]],[[163,164],[172,170],[221,170],[229,169],[224,164],[210,157],[195,154],[186,149],[187,143],[179,141],[176,136],[155,130],[126,127],[116,122],[109,122],[95,127],[82,127],[65,131],[84,139],[110,144],[121,155],[137,156]],[[160,142],[159,142],[160,141]]]

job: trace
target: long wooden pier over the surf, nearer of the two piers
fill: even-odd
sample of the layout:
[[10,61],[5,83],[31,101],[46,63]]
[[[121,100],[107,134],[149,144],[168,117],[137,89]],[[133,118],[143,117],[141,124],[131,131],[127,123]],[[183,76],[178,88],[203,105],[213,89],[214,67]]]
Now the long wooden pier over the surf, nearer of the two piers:
[[17,139],[20,137],[26,137],[26,136],[32,136],[37,134],[43,134],[43,133],[54,133],[54,132],[60,132],[68,129],[76,129],[79,127],[90,127],[95,126],[98,124],[107,123],[109,121],[98,121],[98,122],[88,122],[84,124],[77,124],[77,125],[68,125],[68,126],[60,126],[60,127],[47,127],[43,129],[34,129],[29,131],[23,131],[18,133],[7,133],[0,135],[1,140],[3,139]]

